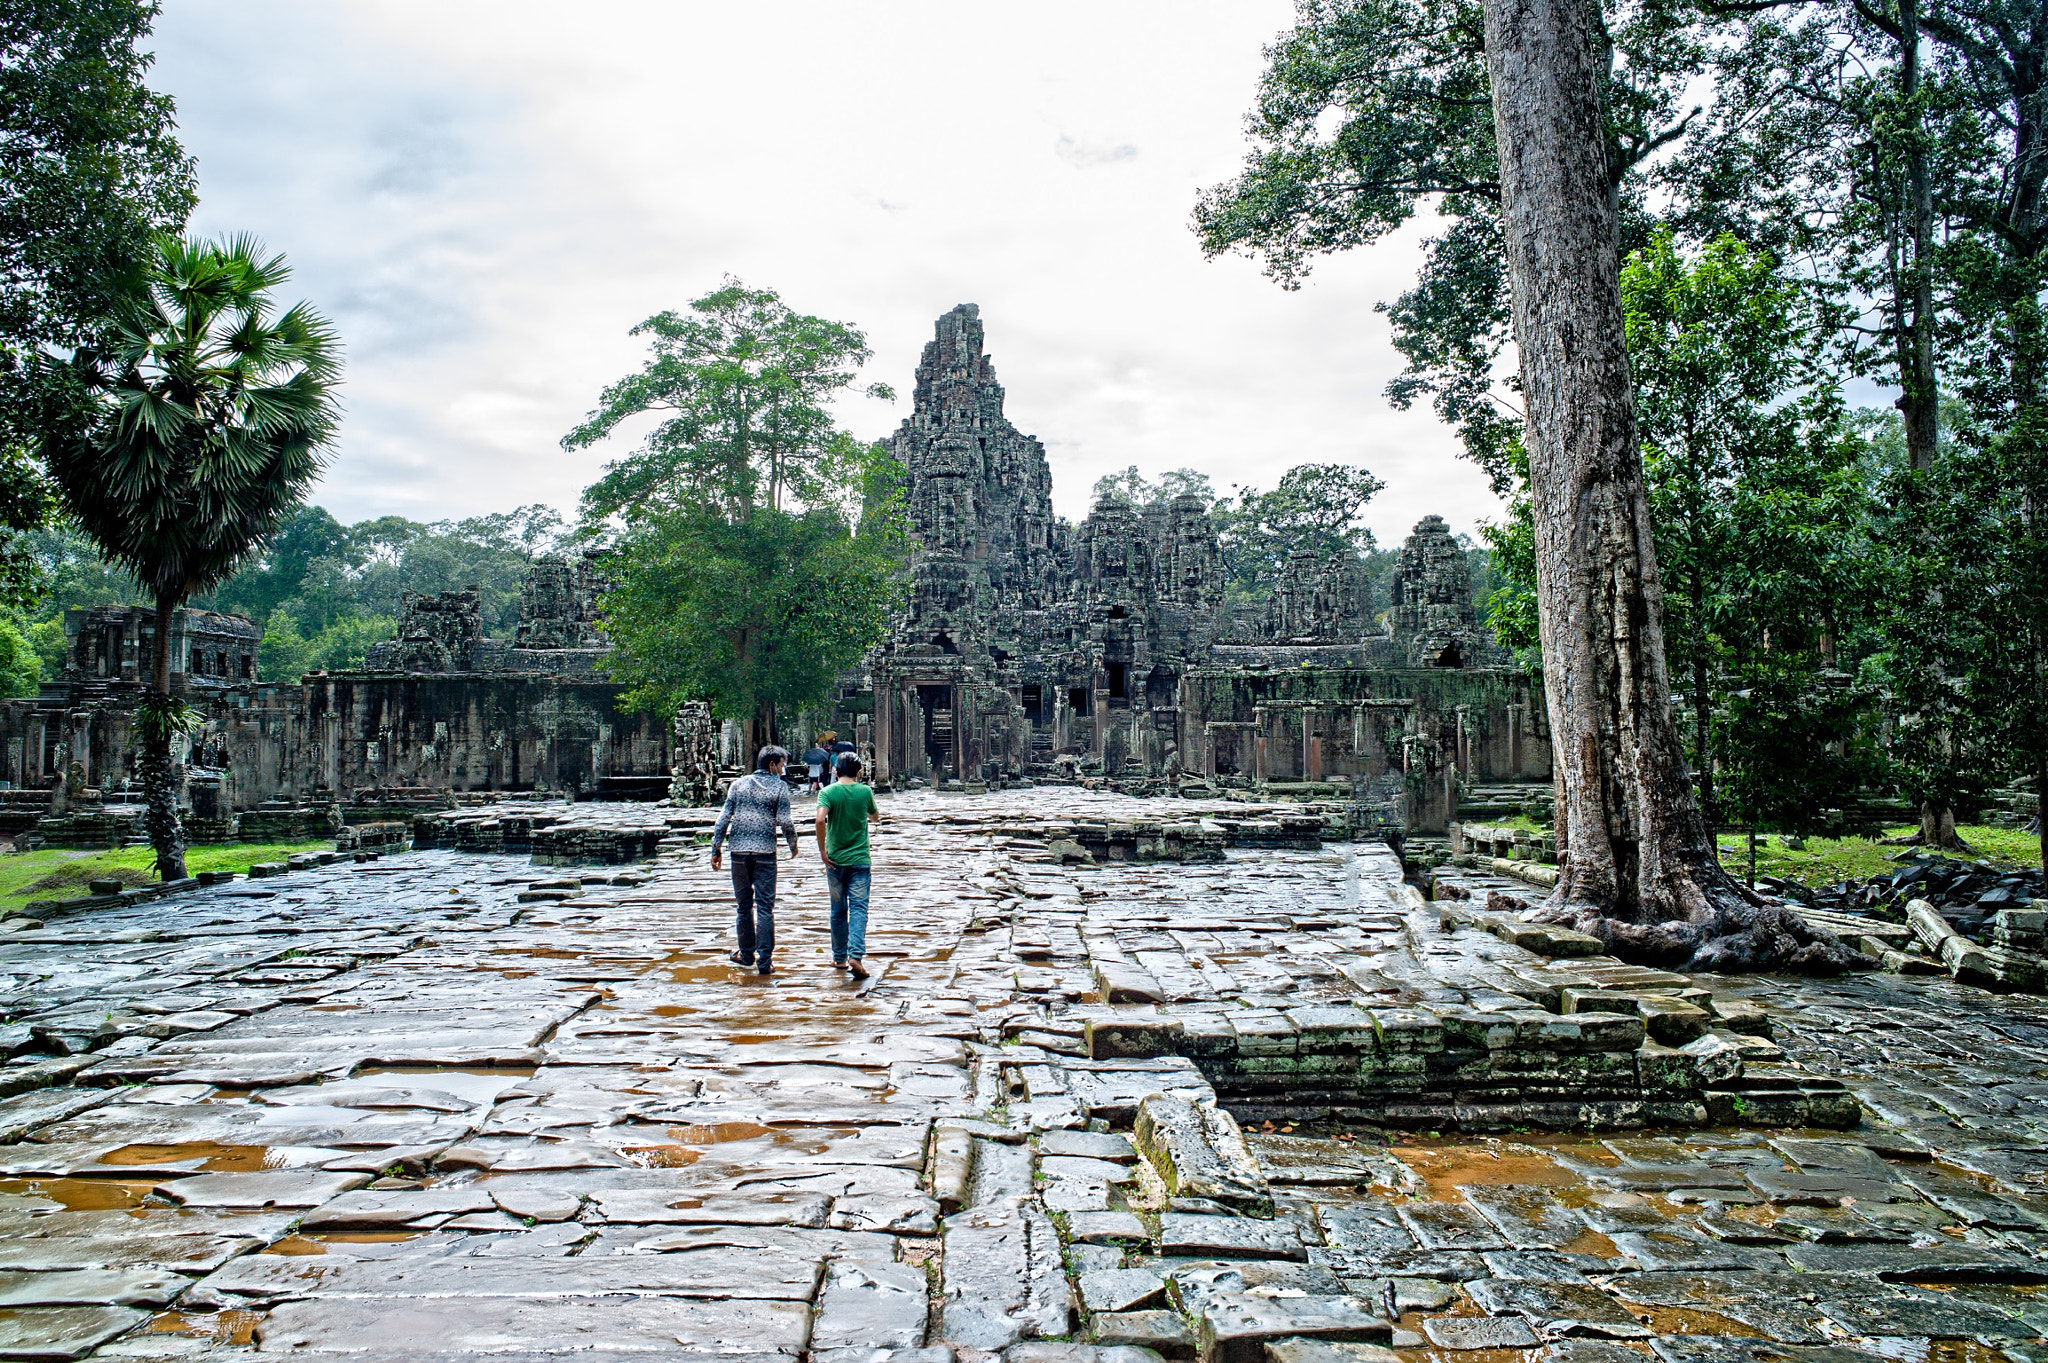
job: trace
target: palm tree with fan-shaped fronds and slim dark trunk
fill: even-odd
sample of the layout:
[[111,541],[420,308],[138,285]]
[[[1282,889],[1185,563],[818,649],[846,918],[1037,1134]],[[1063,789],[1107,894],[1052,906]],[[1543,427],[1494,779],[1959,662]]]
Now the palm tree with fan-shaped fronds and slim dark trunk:
[[319,477],[340,409],[340,346],[307,305],[274,315],[291,276],[254,237],[160,237],[121,291],[106,340],[68,366],[74,405],[43,456],[109,563],[156,598],[150,690],[135,714],[150,843],[184,878],[170,743],[170,624],[225,581]]

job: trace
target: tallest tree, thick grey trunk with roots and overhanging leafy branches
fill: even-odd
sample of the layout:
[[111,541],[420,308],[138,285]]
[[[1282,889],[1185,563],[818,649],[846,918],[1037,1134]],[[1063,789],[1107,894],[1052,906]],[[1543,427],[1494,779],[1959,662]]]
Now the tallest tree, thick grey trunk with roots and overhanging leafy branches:
[[[1458,215],[1395,305],[1413,370],[1397,399],[1434,393],[1503,487],[1528,460],[1569,845],[1552,911],[1618,950],[1696,966],[1847,960],[1722,872],[1671,712],[1618,248],[1640,217],[1638,168],[1692,119],[1692,31],[1659,6],[1583,0],[1303,0],[1298,12],[1270,51],[1251,162],[1196,221],[1210,252],[1253,250],[1286,278],[1307,254],[1399,227],[1425,196]],[[1491,413],[1507,332],[1520,450]]]

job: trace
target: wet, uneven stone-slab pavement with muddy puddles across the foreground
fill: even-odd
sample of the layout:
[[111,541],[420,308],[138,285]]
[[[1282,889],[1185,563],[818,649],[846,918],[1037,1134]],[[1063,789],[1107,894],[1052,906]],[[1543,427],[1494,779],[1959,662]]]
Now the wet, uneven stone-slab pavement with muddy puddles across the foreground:
[[815,860],[727,966],[688,829],[0,935],[0,1359],[2048,1359],[2042,1001],[1049,853],[1186,804],[885,817],[866,982]]

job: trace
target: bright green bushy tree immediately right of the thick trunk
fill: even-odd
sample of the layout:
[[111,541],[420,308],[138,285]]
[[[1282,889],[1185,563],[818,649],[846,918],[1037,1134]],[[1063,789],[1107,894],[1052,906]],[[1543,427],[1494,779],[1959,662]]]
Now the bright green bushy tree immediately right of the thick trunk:
[[[1729,692],[1767,659],[1782,673],[1778,702],[1755,714],[1790,714],[1786,696],[1815,694],[1812,669],[1835,665],[1858,620],[1870,510],[1862,446],[1819,364],[1812,293],[1769,252],[1722,235],[1688,260],[1659,233],[1622,270],[1622,307],[1665,639],[1714,823],[1714,714]],[[1735,733],[1761,737],[1755,722]],[[1851,794],[1815,786],[1821,770],[1806,774],[1806,810]],[[1772,827],[1784,819],[1774,812]]]

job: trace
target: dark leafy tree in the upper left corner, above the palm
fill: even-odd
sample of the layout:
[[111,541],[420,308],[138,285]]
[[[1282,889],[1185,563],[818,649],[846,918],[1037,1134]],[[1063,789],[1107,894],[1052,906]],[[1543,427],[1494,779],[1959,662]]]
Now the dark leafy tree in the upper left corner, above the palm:
[[27,606],[25,532],[51,495],[33,458],[47,358],[100,336],[154,233],[193,209],[172,102],[143,84],[145,0],[0,8],[0,600]]

